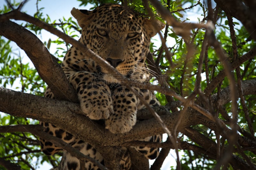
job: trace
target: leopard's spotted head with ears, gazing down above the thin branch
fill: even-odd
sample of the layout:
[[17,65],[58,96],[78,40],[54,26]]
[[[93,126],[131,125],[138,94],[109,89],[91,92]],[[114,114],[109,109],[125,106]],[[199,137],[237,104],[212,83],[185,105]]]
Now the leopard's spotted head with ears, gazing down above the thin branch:
[[[153,26],[151,19],[119,4],[104,4],[93,11],[73,8],[71,14],[82,28],[80,41],[124,75],[145,65],[150,38],[164,28],[162,22]],[[100,68],[100,72],[108,70]]]

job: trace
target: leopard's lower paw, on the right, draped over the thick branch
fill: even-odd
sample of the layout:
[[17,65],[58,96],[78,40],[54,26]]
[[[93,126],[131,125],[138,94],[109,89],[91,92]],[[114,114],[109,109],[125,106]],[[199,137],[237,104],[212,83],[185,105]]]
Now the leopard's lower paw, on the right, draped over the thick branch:
[[[126,114],[126,113],[125,113]],[[136,123],[136,114],[111,114],[105,121],[106,129],[112,133],[129,132]]]

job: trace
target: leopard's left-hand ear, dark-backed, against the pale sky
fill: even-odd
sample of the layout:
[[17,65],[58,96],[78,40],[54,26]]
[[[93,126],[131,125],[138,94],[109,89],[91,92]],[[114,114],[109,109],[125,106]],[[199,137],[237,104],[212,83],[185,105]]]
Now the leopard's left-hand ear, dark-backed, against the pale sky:
[[91,11],[79,10],[76,8],[73,8],[71,10],[71,14],[73,15],[73,17],[76,18],[76,20],[81,28],[83,28],[84,26],[86,26],[88,24],[89,19],[91,17]]

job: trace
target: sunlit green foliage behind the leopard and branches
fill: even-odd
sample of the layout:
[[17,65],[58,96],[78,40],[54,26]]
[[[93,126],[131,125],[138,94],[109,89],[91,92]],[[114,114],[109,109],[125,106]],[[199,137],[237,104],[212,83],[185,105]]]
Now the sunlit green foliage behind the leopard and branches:
[[[98,6],[103,3],[124,3],[124,1],[119,0],[78,0],[81,4],[81,7],[85,5],[93,4]],[[41,3],[40,1],[37,3]],[[174,18],[180,22],[189,22],[191,19],[188,16],[187,12],[196,11],[200,13],[202,18],[198,18],[198,23],[205,24],[207,21],[207,10],[208,8],[203,1],[198,3],[194,0],[180,0],[180,1],[164,1],[161,0],[162,5],[172,12]],[[193,6],[197,4],[196,6]],[[12,2],[12,7],[17,8],[19,3]],[[145,10],[144,4],[142,1],[129,1],[129,6],[134,10],[141,13],[148,14],[148,11]],[[157,14],[156,8],[150,4],[150,9],[154,12],[154,15]],[[193,7],[192,7],[193,6]],[[35,7],[36,8],[36,7]],[[186,8],[186,9],[185,9]],[[216,9],[216,7],[215,7]],[[0,8],[0,14],[7,13],[11,11],[11,8],[6,4]],[[185,16],[185,17],[184,17]],[[52,25],[55,28],[62,30],[67,35],[78,39],[80,37],[81,29],[77,23],[71,18],[60,18],[59,20],[51,20],[51,16],[43,13],[43,8],[38,9],[34,15],[35,18]],[[229,32],[229,25],[226,13],[219,11],[219,15],[216,18],[215,24],[215,36],[220,42],[221,47],[228,56],[228,60],[233,62],[234,58],[234,49],[232,48],[232,40]],[[236,33],[236,44],[238,56],[242,56],[249,52],[252,48],[255,48],[255,41],[252,40],[250,34],[246,31],[245,27],[240,23],[240,21],[235,20],[235,33]],[[34,26],[30,23],[21,23],[22,26],[28,30],[34,32],[39,38],[42,35],[42,28]],[[191,35],[189,40],[184,40],[180,35],[177,35],[175,30],[169,26],[163,30],[163,36],[167,39],[166,44],[168,45],[168,51],[161,46],[159,48],[160,42],[154,41],[151,43],[150,51],[153,54],[153,58],[158,62],[160,71],[162,74],[165,74],[165,81],[170,89],[174,90],[176,93],[180,94],[183,97],[188,97],[195,89],[196,74],[198,71],[198,60],[200,52],[202,51],[203,40],[205,36],[205,29],[197,28],[191,30]],[[45,46],[49,49],[52,44],[56,44],[57,48],[53,55],[57,60],[62,61],[62,57],[70,48],[70,44],[66,43],[60,38],[44,40]],[[192,55],[188,55],[188,51],[192,50]],[[43,96],[44,90],[46,88],[45,83],[37,74],[36,69],[33,67],[32,63],[26,59],[26,55],[21,53],[19,50],[13,49],[13,43],[10,40],[0,37],[0,84],[3,87],[15,89],[16,91],[31,93],[39,96]],[[170,53],[171,61],[166,57],[167,53]],[[220,74],[220,71],[224,69],[222,63],[216,51],[212,47],[208,47],[207,51],[208,61],[204,61],[202,68],[202,82],[201,88],[204,91],[209,82],[207,78],[211,81],[214,77]],[[157,65],[157,66],[158,66]],[[255,79],[256,75],[256,61],[255,57],[247,60],[242,63],[239,67],[241,72],[241,78],[243,80]],[[207,68],[206,68],[207,67]],[[236,71],[233,72],[236,80],[237,74]],[[155,79],[152,79],[152,82]],[[220,88],[223,89],[228,87],[229,80],[227,77],[224,78],[223,82],[220,83]],[[211,94],[218,93],[219,88],[216,85],[216,88],[212,91]],[[169,101],[166,99],[164,94],[156,92],[156,96],[162,105],[165,105]],[[198,96],[197,96],[198,97]],[[244,96],[245,103],[248,108],[249,117],[252,121],[253,129],[256,129],[255,115],[256,115],[256,96],[247,95]],[[176,99],[175,99],[176,100]],[[244,108],[241,104],[241,100],[238,100],[238,124],[240,129],[239,134],[245,136],[250,134],[248,127],[248,120],[245,118]],[[224,105],[225,112],[228,117],[232,117],[231,104],[227,103]],[[179,110],[182,110],[183,107],[179,106]],[[219,118],[223,121],[228,121],[227,118],[219,114]],[[12,115],[7,115],[4,113],[0,114],[0,125],[14,125],[14,124],[38,124],[36,120],[14,117]],[[197,132],[203,134],[208,139],[216,142],[216,133],[205,127],[204,125],[198,124],[193,127]],[[253,134],[254,135],[254,134]],[[198,145],[189,137],[180,134],[179,139],[181,141],[187,141],[190,144]],[[221,139],[220,139],[221,140]],[[13,163],[18,164],[21,169],[36,169],[39,164],[42,164],[44,161],[51,163],[53,166],[57,165],[60,161],[60,156],[47,157],[42,154],[39,149],[39,141],[36,136],[30,133],[2,133],[0,136],[0,157],[6,160],[11,160]],[[223,138],[223,144],[227,144],[227,140]],[[225,145],[226,146],[226,145]],[[217,160],[207,157],[203,154],[193,152],[191,150],[183,150],[184,155],[182,155],[181,168],[182,169],[212,169]],[[248,157],[251,158],[252,163],[256,163],[255,154],[250,151],[244,152]],[[242,158],[242,156],[236,152],[236,154]],[[35,159],[36,158],[36,159]],[[0,165],[0,169],[3,167]],[[176,167],[170,167],[170,169],[176,169]],[[229,166],[228,169],[232,169],[232,166]]]

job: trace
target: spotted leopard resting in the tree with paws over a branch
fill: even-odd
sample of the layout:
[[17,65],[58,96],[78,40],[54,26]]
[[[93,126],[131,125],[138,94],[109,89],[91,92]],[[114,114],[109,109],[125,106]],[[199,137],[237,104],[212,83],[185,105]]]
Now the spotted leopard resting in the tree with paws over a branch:
[[[143,121],[137,120],[136,116],[138,110],[146,108],[138,95],[141,95],[151,107],[160,105],[154,92],[146,89],[152,76],[147,67],[146,57],[149,53],[151,37],[161,31],[165,24],[120,4],[103,4],[91,11],[73,8],[71,14],[82,29],[78,41],[120,73],[111,74],[109,69],[100,65],[99,61],[93,60],[74,46],[69,48],[61,67],[68,82],[76,90],[81,110],[91,120],[103,120],[102,124],[111,133],[129,132],[136,122]],[[134,91],[122,84],[124,78],[133,82],[131,85]],[[55,99],[49,87],[44,96]],[[59,137],[84,155],[104,165],[104,158],[93,144],[51,123],[40,122],[40,125],[44,127],[45,132]],[[162,134],[138,140],[161,142]],[[42,138],[40,144],[41,150],[46,155],[63,152],[60,165],[53,169],[80,169],[80,161],[67,151]],[[159,155],[159,148],[143,146],[134,148],[147,159],[156,159]],[[120,169],[132,169],[128,149],[120,147],[119,150]],[[84,168],[99,169],[89,161],[85,161]]]

